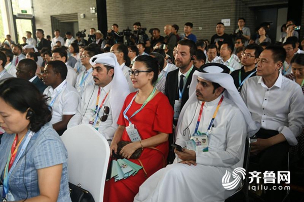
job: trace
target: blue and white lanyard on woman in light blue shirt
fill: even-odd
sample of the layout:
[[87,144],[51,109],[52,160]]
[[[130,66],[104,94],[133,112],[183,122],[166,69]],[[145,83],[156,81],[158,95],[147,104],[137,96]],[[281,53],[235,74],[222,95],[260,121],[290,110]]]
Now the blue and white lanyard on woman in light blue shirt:
[[9,192],[9,178],[12,174],[12,171],[14,170],[14,168],[16,167],[19,159],[21,158],[21,155],[24,153],[25,151],[25,148],[27,147],[30,139],[32,138],[32,136],[34,135],[34,132],[30,131],[30,132],[27,132],[27,137],[22,145],[22,148],[18,154],[18,156],[16,157],[16,159],[14,160],[14,163],[13,163],[13,166],[12,168],[10,169],[10,171],[8,171],[8,167],[9,167],[9,163],[10,163],[10,159],[8,158],[8,161],[7,161],[7,165],[6,165],[6,168],[5,168],[5,172],[4,172],[4,180],[3,180],[3,193],[2,193],[2,198],[5,199],[7,193]]

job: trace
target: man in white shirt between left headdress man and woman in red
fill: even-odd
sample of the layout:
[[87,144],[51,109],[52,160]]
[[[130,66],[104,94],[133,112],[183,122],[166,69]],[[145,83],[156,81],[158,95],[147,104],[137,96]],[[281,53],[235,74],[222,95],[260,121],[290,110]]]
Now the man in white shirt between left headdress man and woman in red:
[[127,66],[127,65],[130,65],[130,58],[128,57],[127,46],[122,43],[117,43],[111,47],[110,52],[114,53],[116,55],[118,64],[122,68],[124,75],[126,77],[126,80],[128,82],[130,92],[131,93],[134,92],[135,89],[133,88],[131,76],[129,75],[129,70],[131,70],[131,69],[130,69],[130,67]]

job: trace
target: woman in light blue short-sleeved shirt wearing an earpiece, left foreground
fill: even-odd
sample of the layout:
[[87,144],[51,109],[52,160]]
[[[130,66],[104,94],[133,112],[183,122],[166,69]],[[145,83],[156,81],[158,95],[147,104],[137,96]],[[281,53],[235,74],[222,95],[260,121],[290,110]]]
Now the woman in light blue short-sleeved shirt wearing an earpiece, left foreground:
[[47,98],[30,82],[0,83],[1,201],[71,202],[67,151],[49,123]]

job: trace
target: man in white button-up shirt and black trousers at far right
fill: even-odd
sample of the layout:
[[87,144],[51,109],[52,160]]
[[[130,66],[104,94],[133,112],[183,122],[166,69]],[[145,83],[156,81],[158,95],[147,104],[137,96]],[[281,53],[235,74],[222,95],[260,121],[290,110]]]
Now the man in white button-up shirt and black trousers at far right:
[[[287,167],[289,145],[296,145],[296,137],[304,123],[304,97],[301,87],[282,76],[279,70],[286,58],[280,46],[268,46],[259,56],[257,72],[248,78],[241,96],[252,119],[261,124],[257,141],[251,144],[254,171],[282,171]],[[267,201],[281,201],[280,195],[268,191]]]

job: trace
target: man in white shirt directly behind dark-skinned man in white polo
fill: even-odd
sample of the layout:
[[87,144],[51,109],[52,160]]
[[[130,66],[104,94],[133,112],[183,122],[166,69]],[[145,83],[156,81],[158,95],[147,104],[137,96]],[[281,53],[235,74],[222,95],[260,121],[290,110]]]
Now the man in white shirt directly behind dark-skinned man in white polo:
[[77,73],[74,71],[74,69],[67,65],[67,53],[62,48],[57,48],[53,50],[52,53],[52,60],[60,60],[65,63],[67,67],[67,75],[66,75],[66,82],[69,83],[72,87],[75,86]]

